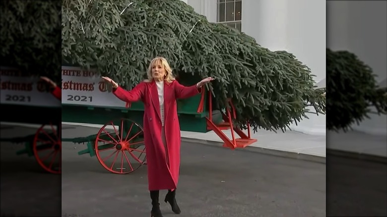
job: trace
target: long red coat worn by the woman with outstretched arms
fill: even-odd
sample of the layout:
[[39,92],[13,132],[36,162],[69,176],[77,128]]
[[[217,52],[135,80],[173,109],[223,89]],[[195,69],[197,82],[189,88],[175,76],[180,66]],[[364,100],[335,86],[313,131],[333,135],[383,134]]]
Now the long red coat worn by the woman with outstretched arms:
[[[132,90],[118,87],[114,95],[124,102],[142,101],[144,104],[144,144],[148,168],[148,188],[152,190],[176,189],[180,170],[180,124],[177,114],[176,99],[193,97],[201,93],[202,88],[195,85],[185,87],[178,81],[164,82],[164,130],[167,150],[161,138],[161,116],[157,85],[141,82]],[[169,167],[166,161],[169,157]]]

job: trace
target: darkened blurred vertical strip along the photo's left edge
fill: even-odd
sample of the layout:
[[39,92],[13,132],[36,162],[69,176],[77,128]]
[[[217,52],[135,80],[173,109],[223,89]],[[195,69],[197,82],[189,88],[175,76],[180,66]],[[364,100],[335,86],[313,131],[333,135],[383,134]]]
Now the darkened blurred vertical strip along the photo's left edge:
[[61,3],[0,1],[1,217],[61,216]]

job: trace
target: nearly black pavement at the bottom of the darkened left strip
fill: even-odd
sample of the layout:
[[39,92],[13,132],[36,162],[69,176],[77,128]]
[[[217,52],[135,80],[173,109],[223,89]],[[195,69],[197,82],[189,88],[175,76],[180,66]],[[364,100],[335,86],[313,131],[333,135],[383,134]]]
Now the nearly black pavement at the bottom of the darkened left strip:
[[[1,125],[1,138],[24,137],[37,129]],[[61,176],[47,174],[34,157],[16,156],[24,144],[1,142],[1,216],[60,215]]]

